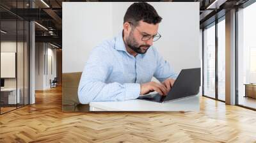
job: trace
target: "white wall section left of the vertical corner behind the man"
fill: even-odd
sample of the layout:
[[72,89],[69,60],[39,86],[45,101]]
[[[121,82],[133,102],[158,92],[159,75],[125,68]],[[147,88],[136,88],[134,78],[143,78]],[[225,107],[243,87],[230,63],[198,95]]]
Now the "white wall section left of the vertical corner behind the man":
[[81,72],[90,50],[113,36],[112,4],[65,2],[62,15],[63,73]]

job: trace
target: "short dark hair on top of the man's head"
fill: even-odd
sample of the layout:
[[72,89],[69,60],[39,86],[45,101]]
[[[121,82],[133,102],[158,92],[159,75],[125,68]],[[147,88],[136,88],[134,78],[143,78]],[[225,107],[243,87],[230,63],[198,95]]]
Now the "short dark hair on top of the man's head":
[[124,23],[132,22],[134,26],[138,26],[140,20],[148,24],[158,24],[161,22],[162,17],[160,17],[155,8],[148,3],[133,3],[129,6],[124,15]]

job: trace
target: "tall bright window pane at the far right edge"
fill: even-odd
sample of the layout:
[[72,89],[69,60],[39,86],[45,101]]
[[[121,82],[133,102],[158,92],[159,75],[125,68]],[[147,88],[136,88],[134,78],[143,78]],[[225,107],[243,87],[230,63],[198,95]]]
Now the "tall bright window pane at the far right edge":
[[256,109],[256,3],[237,11],[238,105]]

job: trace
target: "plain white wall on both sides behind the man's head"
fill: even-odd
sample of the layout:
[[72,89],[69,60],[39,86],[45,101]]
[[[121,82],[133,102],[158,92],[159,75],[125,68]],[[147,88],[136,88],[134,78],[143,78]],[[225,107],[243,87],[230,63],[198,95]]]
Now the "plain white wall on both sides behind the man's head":
[[[122,31],[132,3],[63,3],[63,73],[82,72],[90,51]],[[150,3],[163,17],[157,50],[179,72],[200,67],[199,3]]]

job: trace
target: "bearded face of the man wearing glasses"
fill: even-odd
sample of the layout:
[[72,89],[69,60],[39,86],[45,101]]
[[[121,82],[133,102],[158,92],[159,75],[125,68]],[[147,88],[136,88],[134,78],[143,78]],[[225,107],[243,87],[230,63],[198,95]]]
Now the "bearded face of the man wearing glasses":
[[[138,54],[145,54],[150,46],[153,45],[152,36],[157,34],[159,24],[148,24],[142,20],[139,22],[138,26],[135,27],[131,25],[132,29],[126,38],[126,43],[129,48],[134,50]],[[150,37],[148,40],[144,40],[144,37]],[[143,40],[142,40],[143,39]],[[146,38],[147,39],[147,38]]]

